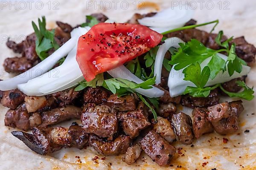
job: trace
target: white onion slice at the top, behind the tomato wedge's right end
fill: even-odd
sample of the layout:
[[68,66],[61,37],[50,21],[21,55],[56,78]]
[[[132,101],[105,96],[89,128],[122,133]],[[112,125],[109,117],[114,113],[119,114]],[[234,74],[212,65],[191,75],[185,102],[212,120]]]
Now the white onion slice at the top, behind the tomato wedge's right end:
[[164,9],[152,17],[144,17],[138,20],[138,22],[162,33],[184,26],[186,22],[192,19],[193,14],[194,11],[189,6],[184,6],[183,8],[174,6]]

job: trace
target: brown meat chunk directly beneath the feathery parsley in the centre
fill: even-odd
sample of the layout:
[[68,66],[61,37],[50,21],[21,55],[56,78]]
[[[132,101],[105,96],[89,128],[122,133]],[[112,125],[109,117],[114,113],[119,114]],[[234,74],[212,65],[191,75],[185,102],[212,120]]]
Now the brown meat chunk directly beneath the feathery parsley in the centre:
[[136,109],[133,95],[118,97],[117,95],[112,94],[108,98],[108,105],[117,111],[133,111]]

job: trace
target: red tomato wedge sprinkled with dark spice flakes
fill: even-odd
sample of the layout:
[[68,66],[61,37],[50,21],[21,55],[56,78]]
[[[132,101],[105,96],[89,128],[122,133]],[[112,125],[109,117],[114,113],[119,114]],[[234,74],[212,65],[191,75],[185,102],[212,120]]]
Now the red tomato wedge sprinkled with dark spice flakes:
[[157,46],[163,35],[128,23],[99,23],[78,41],[76,61],[86,81]]

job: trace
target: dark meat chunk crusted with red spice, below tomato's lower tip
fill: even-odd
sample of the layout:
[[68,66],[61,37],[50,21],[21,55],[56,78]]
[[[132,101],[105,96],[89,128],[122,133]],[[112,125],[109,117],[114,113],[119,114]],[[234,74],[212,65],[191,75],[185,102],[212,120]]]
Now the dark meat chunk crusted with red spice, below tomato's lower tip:
[[96,105],[99,105],[107,100],[108,93],[102,88],[87,88],[84,92],[84,102],[86,103],[95,103]]

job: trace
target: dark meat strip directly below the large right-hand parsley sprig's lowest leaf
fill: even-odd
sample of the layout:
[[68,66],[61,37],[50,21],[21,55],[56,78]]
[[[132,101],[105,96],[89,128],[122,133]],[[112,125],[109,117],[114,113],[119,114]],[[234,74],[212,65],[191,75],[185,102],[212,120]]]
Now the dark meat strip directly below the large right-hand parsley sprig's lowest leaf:
[[192,97],[189,94],[183,95],[181,98],[181,105],[195,108],[195,107],[208,107],[217,105],[219,103],[218,91],[213,90],[208,97]]

